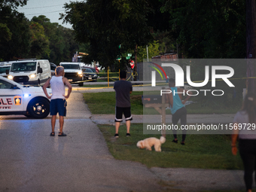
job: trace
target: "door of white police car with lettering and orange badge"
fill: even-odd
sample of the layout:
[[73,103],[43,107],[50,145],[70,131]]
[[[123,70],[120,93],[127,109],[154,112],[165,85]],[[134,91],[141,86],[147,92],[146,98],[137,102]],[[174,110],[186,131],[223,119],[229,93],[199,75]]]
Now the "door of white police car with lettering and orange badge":
[[0,79],[0,112],[25,111],[23,90],[9,81]]

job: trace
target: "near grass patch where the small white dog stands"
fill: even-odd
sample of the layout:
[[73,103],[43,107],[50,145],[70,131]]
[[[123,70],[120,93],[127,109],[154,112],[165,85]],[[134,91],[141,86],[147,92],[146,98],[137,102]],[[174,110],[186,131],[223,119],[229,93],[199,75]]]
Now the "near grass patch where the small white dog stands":
[[132,160],[148,167],[184,167],[202,169],[242,169],[239,155],[233,156],[230,136],[187,135],[186,145],[172,143],[172,135],[166,136],[162,152],[147,151],[136,147],[139,140],[160,135],[143,134],[142,123],[132,123],[131,137],[126,137],[126,126],[120,126],[119,138],[114,138],[114,126],[98,125],[109,151],[117,160]]

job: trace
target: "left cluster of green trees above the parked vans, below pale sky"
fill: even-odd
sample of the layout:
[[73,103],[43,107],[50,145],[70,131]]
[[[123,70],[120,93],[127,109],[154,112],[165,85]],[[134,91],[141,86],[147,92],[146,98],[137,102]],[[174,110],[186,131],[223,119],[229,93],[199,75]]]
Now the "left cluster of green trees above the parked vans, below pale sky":
[[9,6],[0,7],[1,60],[37,58],[49,59],[56,64],[72,60],[75,51],[79,50],[72,29],[50,23],[44,15],[29,21],[15,10],[17,4],[8,2]]

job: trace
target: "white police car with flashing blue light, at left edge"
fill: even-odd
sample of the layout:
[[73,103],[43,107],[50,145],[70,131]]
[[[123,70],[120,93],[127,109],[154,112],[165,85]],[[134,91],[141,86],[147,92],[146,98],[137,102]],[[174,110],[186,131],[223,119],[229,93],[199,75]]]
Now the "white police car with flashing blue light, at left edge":
[[[47,88],[50,95],[51,90]],[[42,87],[26,87],[8,78],[0,77],[0,115],[23,114],[44,118],[50,112],[50,100]]]

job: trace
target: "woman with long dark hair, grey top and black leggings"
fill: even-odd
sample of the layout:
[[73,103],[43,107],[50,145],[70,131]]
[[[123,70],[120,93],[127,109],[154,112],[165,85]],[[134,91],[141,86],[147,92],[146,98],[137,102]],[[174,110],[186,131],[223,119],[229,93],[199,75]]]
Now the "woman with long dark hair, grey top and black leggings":
[[[236,140],[239,139],[239,153],[245,169],[246,191],[252,191],[253,172],[256,167],[256,96],[248,93],[233,120],[232,154],[237,154]],[[255,177],[256,181],[256,177]]]

